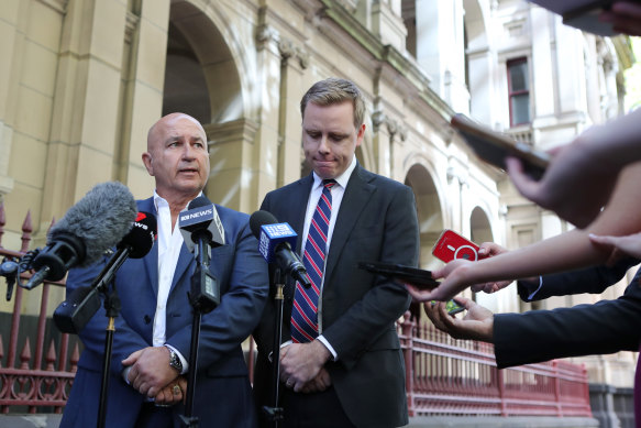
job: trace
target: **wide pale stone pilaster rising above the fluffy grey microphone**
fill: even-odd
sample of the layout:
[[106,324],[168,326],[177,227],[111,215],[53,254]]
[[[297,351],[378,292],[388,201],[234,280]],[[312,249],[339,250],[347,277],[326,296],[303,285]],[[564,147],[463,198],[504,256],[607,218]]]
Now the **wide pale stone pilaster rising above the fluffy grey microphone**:
[[68,3],[53,100],[42,213],[51,221],[114,177],[126,3]]

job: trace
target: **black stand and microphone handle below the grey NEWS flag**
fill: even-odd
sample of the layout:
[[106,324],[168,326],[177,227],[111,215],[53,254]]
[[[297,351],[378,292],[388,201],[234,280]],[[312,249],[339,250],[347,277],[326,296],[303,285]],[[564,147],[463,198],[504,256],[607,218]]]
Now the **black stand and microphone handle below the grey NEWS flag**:
[[191,292],[189,293],[189,303],[194,308],[194,320],[191,322],[189,376],[185,397],[185,415],[180,415],[183,425],[188,428],[197,428],[199,426],[198,416],[194,416],[194,395],[196,389],[196,373],[198,371],[200,321],[203,314],[209,314],[220,303],[218,281],[209,272],[211,239],[206,230],[194,232],[192,238],[195,238],[194,241],[197,243],[195,248],[196,270],[191,276]]

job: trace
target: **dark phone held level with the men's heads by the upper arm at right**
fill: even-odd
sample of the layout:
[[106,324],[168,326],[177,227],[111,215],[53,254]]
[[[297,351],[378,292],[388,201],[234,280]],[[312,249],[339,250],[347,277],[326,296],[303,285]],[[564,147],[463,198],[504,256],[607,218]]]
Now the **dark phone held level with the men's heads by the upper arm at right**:
[[464,114],[454,114],[450,122],[478,157],[501,169],[506,169],[506,157],[515,156],[523,162],[524,171],[530,177],[540,179],[550,164],[548,153],[535,151],[528,144],[495,132]]

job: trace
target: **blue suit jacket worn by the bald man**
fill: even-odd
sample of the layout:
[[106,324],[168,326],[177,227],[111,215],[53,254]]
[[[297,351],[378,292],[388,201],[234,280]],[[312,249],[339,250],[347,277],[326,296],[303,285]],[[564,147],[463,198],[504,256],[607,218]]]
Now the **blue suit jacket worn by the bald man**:
[[[137,202],[139,210],[156,213],[153,198]],[[241,342],[258,322],[268,293],[267,265],[257,252],[248,216],[215,206],[225,231],[225,244],[212,249],[210,272],[218,279],[221,303],[202,316],[195,416],[201,426],[252,427],[256,424],[251,385]],[[178,224],[176,224],[178,227]],[[103,263],[73,270],[67,292],[90,285]],[[187,293],[196,260],[185,244],[167,299],[166,342],[189,361],[192,310]],[[158,248],[139,260],[128,260],[115,275],[122,309],[115,318],[108,397],[108,427],[134,427],[144,397],[122,378],[121,361],[152,345],[158,289]],[[100,309],[80,332],[85,350],[65,408],[62,427],[96,425],[107,317]],[[191,367],[190,367],[191,370]],[[173,407],[175,426],[181,405]]]

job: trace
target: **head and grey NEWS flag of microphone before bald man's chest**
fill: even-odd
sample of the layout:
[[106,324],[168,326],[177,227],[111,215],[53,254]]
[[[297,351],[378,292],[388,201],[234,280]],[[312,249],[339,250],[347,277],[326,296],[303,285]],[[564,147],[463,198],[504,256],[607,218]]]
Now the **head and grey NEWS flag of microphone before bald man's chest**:
[[189,202],[187,211],[179,216],[180,233],[190,252],[195,251],[198,238],[202,235],[211,246],[224,245],[224,229],[215,206],[201,195]]

